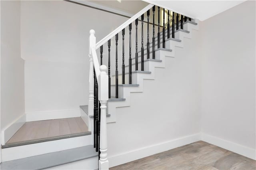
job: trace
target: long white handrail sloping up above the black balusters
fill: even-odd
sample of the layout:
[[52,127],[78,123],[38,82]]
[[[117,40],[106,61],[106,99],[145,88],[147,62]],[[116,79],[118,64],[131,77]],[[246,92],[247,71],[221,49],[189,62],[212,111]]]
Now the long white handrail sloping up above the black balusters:
[[101,45],[103,45],[104,43],[106,43],[108,40],[110,40],[110,38],[114,37],[117,33],[119,33],[120,31],[122,31],[124,28],[126,28],[129,24],[131,24],[132,22],[134,22],[137,18],[139,18],[142,14],[144,14],[145,12],[147,12],[150,8],[152,8],[154,5],[153,4],[149,4],[148,6],[146,6],[145,8],[143,8],[142,10],[140,10],[140,12],[138,12],[137,14],[135,14],[134,16],[132,16],[132,18],[130,18],[129,20],[127,20],[126,22],[124,22],[122,25],[120,25],[118,28],[116,28],[114,31],[112,31],[110,34],[108,34],[106,37],[104,37],[102,40],[100,40],[98,43],[96,43],[96,47],[95,49],[98,49]]

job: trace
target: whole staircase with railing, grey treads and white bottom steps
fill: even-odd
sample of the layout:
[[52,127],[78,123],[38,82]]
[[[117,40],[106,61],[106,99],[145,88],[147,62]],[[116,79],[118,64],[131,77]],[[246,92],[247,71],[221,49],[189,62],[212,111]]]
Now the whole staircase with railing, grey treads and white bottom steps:
[[[157,20],[154,18],[155,12],[158,12],[158,25],[155,25],[155,20]],[[96,43],[94,30],[90,30],[89,104],[80,106],[80,110],[88,132],[91,133],[26,145],[3,146],[1,169],[98,168],[105,170],[120,164],[118,161],[108,162],[107,123],[118,122],[119,113],[116,108],[132,106],[131,94],[143,95],[145,93],[144,80],[156,81],[156,68],[169,67],[166,64],[166,59],[176,56],[177,47],[186,48],[183,43],[184,39],[191,39],[192,30],[198,30],[198,20],[179,14],[176,14],[176,22],[174,17],[172,18],[172,26],[170,26],[170,11],[166,10],[166,12],[164,17],[167,18],[167,22],[165,23],[163,19],[164,27],[161,27],[160,8],[150,4],[98,43]],[[149,24],[150,13],[151,16],[153,14],[153,24],[151,25]],[[144,15],[147,16],[145,23]],[[172,16],[174,16],[174,12]],[[141,32],[137,30],[139,23],[142,27]],[[135,24],[135,36],[131,36],[132,24]],[[149,30],[149,26],[151,28],[153,26],[153,29]],[[157,36],[155,36],[155,27],[158,30]],[[126,45],[124,45],[125,30],[129,31],[130,38]],[[120,38],[119,44],[118,34],[122,35],[123,40],[121,41]],[[138,43],[138,37],[141,38],[140,43]],[[143,38],[145,38],[145,43]],[[111,39],[116,42],[116,49],[112,49],[116,50],[116,56],[110,55]],[[127,44],[129,53],[125,53],[125,49],[128,48]],[[132,45],[135,46],[134,51],[132,51],[134,48]],[[103,46],[108,49],[106,50],[108,51],[108,64],[102,61]],[[141,50],[138,50],[138,46],[141,47]],[[120,70],[118,69],[120,51],[122,51],[122,71],[118,72]],[[135,57],[132,57],[134,53]],[[124,57],[129,57],[128,63],[125,62]],[[110,59],[111,61],[116,60],[115,67],[110,67]]]

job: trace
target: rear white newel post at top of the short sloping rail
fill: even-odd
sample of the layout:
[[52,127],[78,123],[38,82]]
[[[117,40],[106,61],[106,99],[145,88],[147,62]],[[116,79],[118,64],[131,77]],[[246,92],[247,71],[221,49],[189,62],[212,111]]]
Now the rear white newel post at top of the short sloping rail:
[[[94,36],[95,31],[90,30],[90,38],[89,38],[89,58],[90,58],[90,71],[89,71],[89,103],[88,103],[88,117],[93,115],[93,107],[94,107],[94,71],[93,71],[93,59],[92,59],[92,51],[91,47],[96,44],[96,38]],[[88,130],[93,130],[93,121],[89,119]]]

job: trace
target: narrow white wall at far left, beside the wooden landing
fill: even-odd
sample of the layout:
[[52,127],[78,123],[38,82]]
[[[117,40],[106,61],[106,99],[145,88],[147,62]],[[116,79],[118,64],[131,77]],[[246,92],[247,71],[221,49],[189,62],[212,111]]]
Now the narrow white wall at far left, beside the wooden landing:
[[[5,135],[5,139],[2,138],[5,142],[24,123],[24,113],[24,60],[20,57],[20,2],[1,1],[1,130],[3,130],[1,134]],[[21,122],[20,118],[22,118]],[[14,126],[10,127],[12,124]],[[5,134],[6,130],[7,134]]]

